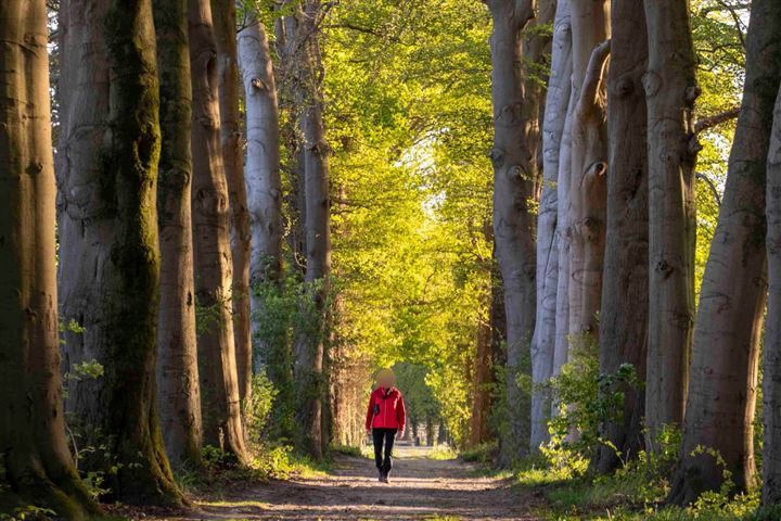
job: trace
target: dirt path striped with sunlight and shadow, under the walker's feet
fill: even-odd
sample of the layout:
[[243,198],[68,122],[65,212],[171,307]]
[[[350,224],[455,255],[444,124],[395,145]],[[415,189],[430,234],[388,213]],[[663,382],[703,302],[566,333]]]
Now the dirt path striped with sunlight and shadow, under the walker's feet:
[[[337,456],[325,473],[235,483],[194,497],[192,509],[129,519],[177,520],[536,520],[541,503],[510,479],[481,475],[456,459],[431,459],[427,449],[400,446],[390,483],[380,483],[373,461]],[[130,512],[126,512],[128,516]]]

